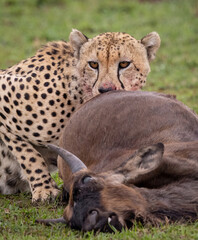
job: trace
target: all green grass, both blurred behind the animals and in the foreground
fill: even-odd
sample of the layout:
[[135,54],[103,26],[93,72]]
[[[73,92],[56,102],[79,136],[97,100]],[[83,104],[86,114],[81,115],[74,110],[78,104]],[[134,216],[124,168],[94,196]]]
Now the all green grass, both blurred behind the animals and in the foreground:
[[[67,40],[72,28],[88,37],[123,31],[137,39],[157,31],[162,44],[144,90],[176,94],[198,113],[197,0],[1,0],[0,68],[33,55],[47,41]],[[63,209],[58,203],[33,206],[30,195],[0,195],[0,239],[198,239],[198,223],[96,236],[35,223],[60,217]]]

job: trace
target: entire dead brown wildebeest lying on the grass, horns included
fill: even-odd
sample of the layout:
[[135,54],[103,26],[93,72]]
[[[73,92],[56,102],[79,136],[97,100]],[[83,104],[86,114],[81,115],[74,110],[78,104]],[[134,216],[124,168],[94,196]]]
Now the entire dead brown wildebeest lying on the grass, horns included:
[[171,96],[102,94],[65,128],[60,147],[75,156],[50,147],[62,157],[58,167],[69,203],[63,218],[42,222],[111,232],[135,220],[198,219],[198,116]]

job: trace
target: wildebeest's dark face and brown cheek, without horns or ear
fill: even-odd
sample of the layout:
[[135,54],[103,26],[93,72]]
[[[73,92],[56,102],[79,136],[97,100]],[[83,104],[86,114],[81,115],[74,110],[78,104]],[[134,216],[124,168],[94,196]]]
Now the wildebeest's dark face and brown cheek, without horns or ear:
[[117,230],[131,227],[128,218],[134,220],[135,212],[143,210],[143,202],[132,188],[107,183],[87,171],[81,172],[74,177],[64,218],[74,229],[112,232],[112,227]]

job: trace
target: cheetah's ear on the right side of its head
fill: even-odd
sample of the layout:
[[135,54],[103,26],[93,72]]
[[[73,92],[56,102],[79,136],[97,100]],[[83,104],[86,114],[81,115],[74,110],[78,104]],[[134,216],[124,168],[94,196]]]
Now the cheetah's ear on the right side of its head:
[[151,32],[141,39],[145,46],[149,62],[155,59],[155,54],[160,47],[160,36],[157,32]]

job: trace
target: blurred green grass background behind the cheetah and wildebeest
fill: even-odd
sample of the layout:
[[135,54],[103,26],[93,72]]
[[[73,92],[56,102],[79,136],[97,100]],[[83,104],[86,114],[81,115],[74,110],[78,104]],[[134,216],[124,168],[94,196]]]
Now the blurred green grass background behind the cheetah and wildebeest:
[[177,95],[198,112],[197,0],[1,0],[0,68],[34,54],[48,41],[68,40],[72,28],[88,37],[122,31],[162,40],[144,90]]

